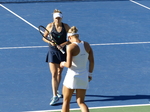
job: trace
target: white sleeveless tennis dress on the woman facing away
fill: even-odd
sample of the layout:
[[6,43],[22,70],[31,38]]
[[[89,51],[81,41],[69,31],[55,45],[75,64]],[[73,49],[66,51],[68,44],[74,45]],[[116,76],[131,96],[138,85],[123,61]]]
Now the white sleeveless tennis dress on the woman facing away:
[[73,56],[72,66],[68,68],[63,85],[70,89],[88,89],[88,70],[86,68],[89,54],[84,48],[84,42],[77,43],[80,53]]

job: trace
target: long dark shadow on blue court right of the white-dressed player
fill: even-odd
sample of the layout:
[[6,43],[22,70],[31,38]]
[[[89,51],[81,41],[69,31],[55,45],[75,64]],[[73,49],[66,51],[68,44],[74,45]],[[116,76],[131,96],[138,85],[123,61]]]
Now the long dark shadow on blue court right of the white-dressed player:
[[119,96],[86,95],[86,97],[97,97],[97,99],[95,99],[95,100],[85,100],[85,102],[124,101],[124,100],[141,100],[141,99],[150,100],[150,95],[119,95]]

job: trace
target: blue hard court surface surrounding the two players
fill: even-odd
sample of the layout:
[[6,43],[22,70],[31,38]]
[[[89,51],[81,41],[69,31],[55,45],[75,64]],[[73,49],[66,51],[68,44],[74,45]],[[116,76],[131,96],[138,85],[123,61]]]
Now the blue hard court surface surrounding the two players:
[[[95,69],[85,103],[149,104],[149,0],[12,3],[0,4],[0,112],[61,109],[62,99],[49,105],[48,45],[37,31],[39,25],[52,22],[56,8],[63,12],[63,22],[76,26],[80,39],[94,51]],[[75,95],[70,106],[79,108]]]

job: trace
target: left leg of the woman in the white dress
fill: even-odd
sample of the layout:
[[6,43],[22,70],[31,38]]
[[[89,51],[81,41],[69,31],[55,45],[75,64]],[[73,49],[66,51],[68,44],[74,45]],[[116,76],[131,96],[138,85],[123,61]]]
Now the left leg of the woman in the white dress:
[[69,89],[66,86],[63,86],[63,105],[62,112],[69,112],[70,109],[70,100],[73,94],[73,89]]

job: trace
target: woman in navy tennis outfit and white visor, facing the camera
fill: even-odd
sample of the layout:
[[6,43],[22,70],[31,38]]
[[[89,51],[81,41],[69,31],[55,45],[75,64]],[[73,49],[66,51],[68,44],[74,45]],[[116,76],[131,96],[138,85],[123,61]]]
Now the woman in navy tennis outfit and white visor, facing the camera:
[[54,21],[49,23],[46,27],[59,46],[55,46],[54,43],[43,38],[44,42],[49,43],[49,51],[46,57],[46,62],[49,63],[49,69],[52,74],[53,97],[50,105],[55,105],[59,98],[62,97],[62,95],[58,93],[58,88],[61,81],[61,73],[63,70],[63,68],[60,67],[60,62],[66,60],[66,53],[62,54],[59,49],[63,48],[63,50],[66,51],[65,45],[68,43],[66,40],[67,32],[70,28],[68,24],[62,22],[62,18],[62,12],[58,9],[55,9],[53,12]]

